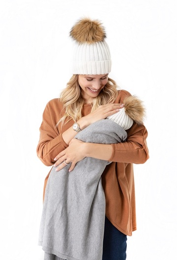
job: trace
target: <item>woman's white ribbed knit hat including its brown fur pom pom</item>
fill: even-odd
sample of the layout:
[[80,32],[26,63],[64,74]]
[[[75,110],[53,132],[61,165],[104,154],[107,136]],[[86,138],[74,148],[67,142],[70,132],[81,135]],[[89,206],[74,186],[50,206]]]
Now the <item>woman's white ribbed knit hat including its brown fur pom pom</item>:
[[70,31],[74,39],[71,72],[72,74],[100,75],[111,71],[111,54],[105,41],[106,34],[101,23],[81,19]]

